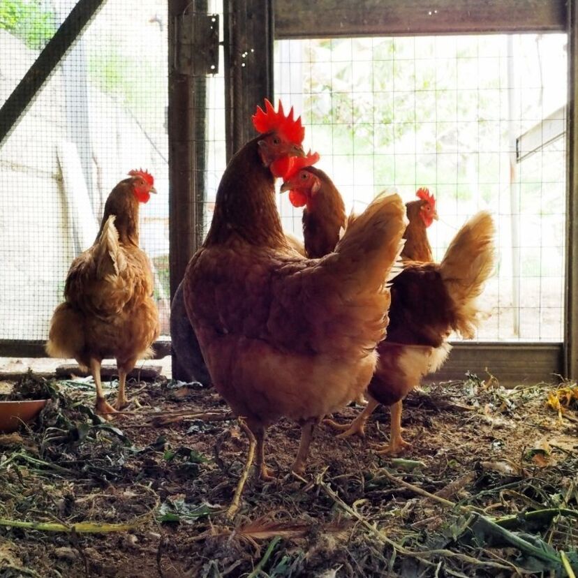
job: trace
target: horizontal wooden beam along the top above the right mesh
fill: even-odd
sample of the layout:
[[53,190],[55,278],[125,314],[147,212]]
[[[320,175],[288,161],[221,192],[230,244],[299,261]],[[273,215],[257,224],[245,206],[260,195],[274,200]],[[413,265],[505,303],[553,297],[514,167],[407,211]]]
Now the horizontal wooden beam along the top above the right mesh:
[[275,1],[275,38],[563,32],[565,0]]

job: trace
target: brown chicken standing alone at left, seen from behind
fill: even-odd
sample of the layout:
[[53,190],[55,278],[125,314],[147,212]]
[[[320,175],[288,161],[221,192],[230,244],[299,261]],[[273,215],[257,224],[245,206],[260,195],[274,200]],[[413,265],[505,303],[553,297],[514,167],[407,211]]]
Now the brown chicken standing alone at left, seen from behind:
[[[65,301],[52,315],[46,343],[52,357],[73,357],[90,369],[96,384],[96,412],[107,418],[128,404],[126,375],[138,359],[152,354],[160,329],[151,267],[138,246],[139,205],[156,193],[154,179],[142,170],[128,174],[108,195],[94,244],[72,262]],[[115,357],[119,370],[114,407],[106,401],[101,385],[105,357]]]

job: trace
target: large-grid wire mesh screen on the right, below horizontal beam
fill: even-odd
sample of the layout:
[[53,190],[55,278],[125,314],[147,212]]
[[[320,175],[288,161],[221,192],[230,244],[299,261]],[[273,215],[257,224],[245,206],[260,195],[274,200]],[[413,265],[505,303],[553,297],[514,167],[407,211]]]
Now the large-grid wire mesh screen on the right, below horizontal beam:
[[[280,40],[276,96],[302,111],[306,147],[346,207],[385,188],[427,186],[440,221],[436,260],[489,209],[497,274],[477,338],[562,341],[566,36],[484,35]],[[281,200],[286,228],[301,212]]]

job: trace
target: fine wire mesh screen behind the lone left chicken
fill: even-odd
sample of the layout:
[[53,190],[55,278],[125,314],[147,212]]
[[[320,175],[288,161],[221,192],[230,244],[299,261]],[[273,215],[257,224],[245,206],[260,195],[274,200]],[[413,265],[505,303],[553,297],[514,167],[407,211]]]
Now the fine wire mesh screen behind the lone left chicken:
[[[0,102],[75,5],[0,3]],[[167,6],[108,0],[2,143],[0,340],[43,340],[68,266],[94,242],[108,193],[146,168],[158,195],[140,208],[168,334]]]

